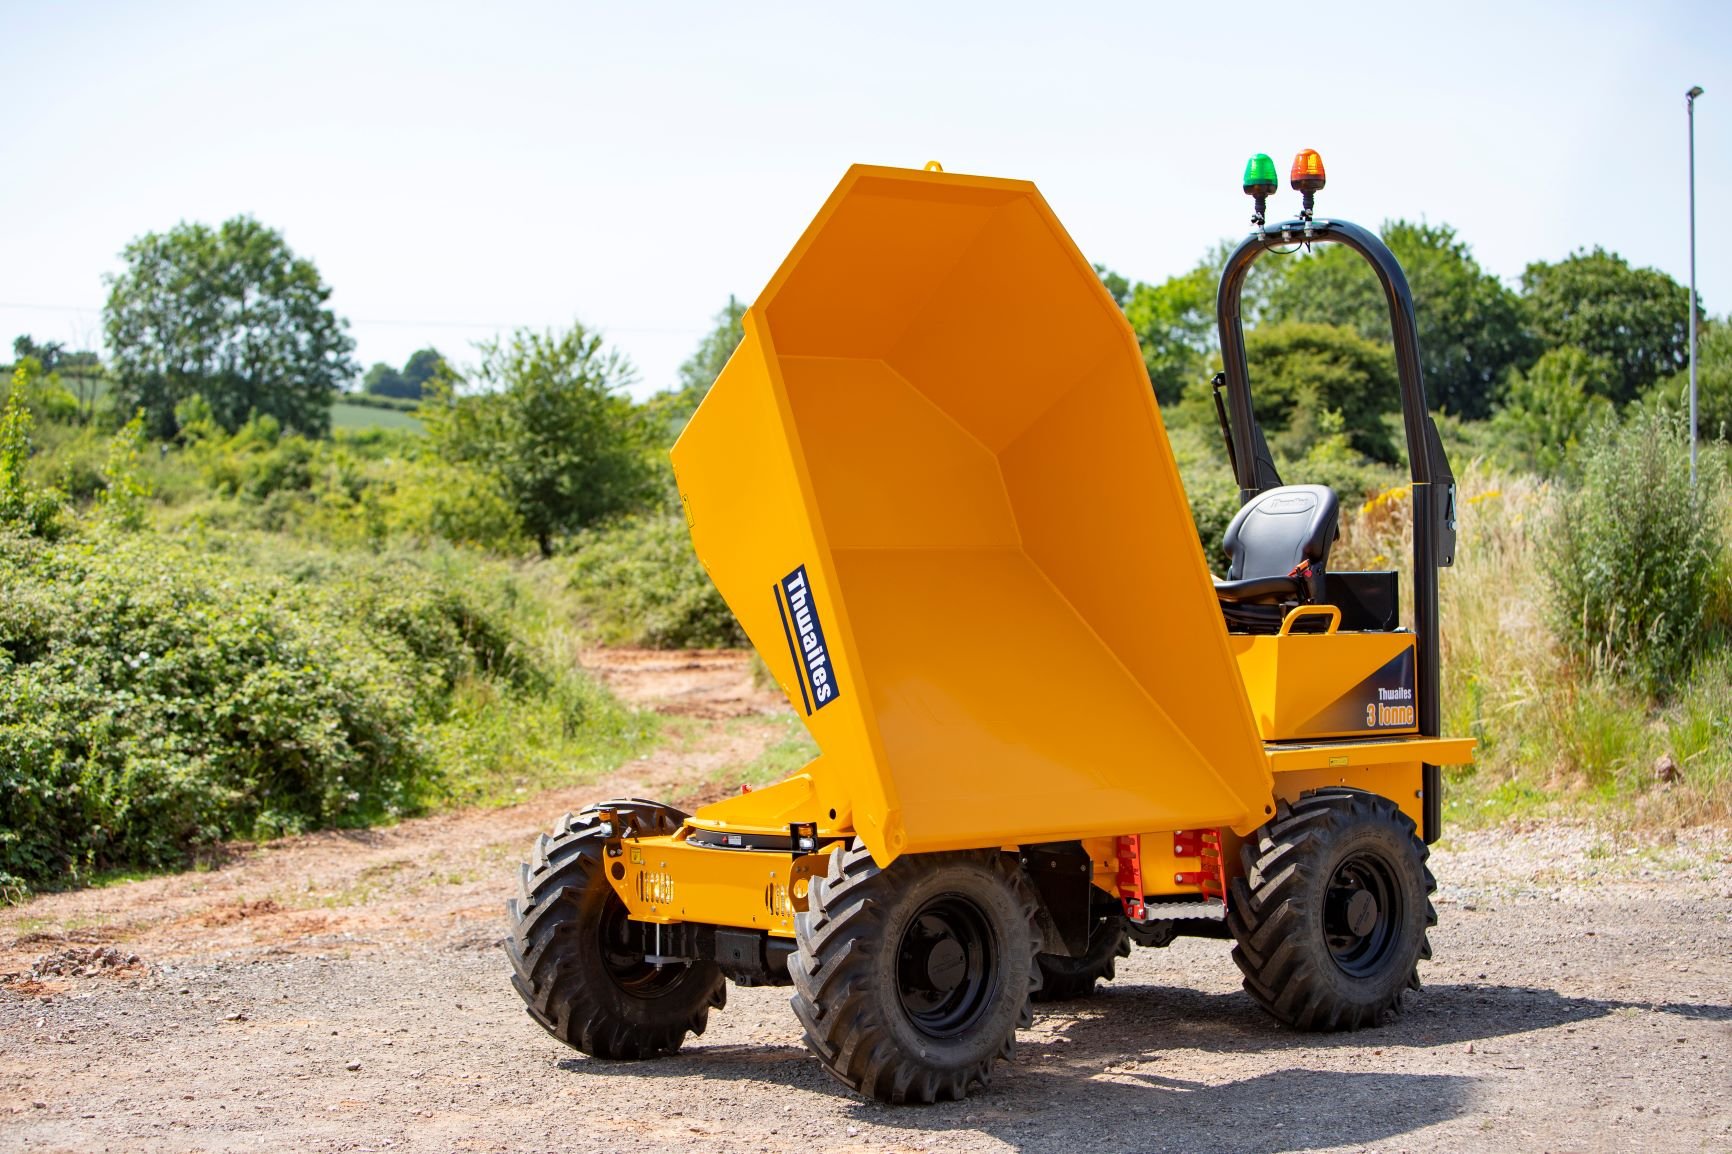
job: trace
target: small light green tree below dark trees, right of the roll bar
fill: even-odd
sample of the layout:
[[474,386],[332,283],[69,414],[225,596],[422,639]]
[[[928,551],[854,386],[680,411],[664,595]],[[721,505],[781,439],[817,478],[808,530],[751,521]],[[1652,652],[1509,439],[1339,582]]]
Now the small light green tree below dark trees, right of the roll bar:
[[1554,475],[1588,431],[1611,416],[1618,369],[1580,348],[1552,348],[1526,373],[1510,374],[1491,428],[1517,464]]

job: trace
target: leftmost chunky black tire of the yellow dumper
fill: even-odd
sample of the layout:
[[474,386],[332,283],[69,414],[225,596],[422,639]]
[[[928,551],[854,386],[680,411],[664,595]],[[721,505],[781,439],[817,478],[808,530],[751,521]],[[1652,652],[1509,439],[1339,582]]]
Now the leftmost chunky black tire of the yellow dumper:
[[[608,806],[636,818],[644,833],[672,833],[677,809],[644,801]],[[511,984],[530,1017],[559,1041],[603,1059],[674,1054],[701,1034],[710,1010],[727,1002],[714,962],[651,965],[625,939],[625,903],[608,884],[606,839],[596,807],[565,814],[553,837],[535,840],[506,903]]]

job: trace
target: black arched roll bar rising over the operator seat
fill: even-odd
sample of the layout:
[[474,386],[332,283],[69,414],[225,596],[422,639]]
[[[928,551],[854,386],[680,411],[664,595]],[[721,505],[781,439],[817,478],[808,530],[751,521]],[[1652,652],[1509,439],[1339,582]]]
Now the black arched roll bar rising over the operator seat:
[[[1425,379],[1419,362],[1419,326],[1406,274],[1382,239],[1346,220],[1285,220],[1263,225],[1240,241],[1221,270],[1216,293],[1216,324],[1221,331],[1221,362],[1231,412],[1233,466],[1240,504],[1282,483],[1275,471],[1263,428],[1251,407],[1251,371],[1245,362],[1245,327],[1240,296],[1245,276],[1259,256],[1290,244],[1346,244],[1377,274],[1389,305],[1389,327],[1396,345],[1396,378],[1401,383],[1401,425],[1406,430],[1408,470],[1413,482],[1413,634],[1419,665],[1419,731],[1441,735],[1438,570],[1455,563],[1455,473],[1438,437],[1438,425],[1425,405]],[[1424,837],[1438,840],[1443,827],[1443,773],[1425,766]]]

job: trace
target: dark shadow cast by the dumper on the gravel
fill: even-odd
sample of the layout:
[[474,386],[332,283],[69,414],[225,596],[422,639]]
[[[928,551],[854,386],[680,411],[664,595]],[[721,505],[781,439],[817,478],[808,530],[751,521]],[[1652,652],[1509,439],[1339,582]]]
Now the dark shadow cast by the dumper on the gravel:
[[[1528,986],[1439,984],[1410,995],[1406,1010],[1375,1029],[1302,1034],[1278,1026],[1244,993],[1171,986],[1105,986],[1093,998],[1037,1007],[1044,1038],[1024,1036],[992,1086],[965,1102],[887,1107],[849,1095],[802,1047],[698,1040],[656,1074],[753,1081],[833,1093],[876,1126],[977,1130],[1022,1149],[1221,1151],[1278,1154],[1313,1145],[1384,1142],[1472,1109],[1474,1078],[1424,1073],[1308,1069],[1320,1050],[1443,1048],[1574,1026],[1618,1010],[1732,1021],[1732,1005],[1573,998]],[[1204,1054],[1292,1055],[1285,1069],[1216,1083],[1188,1076]],[[1285,1062],[1283,1062],[1285,1066]],[[644,1074],[630,1062],[566,1059],[591,1076]],[[769,1099],[774,1102],[774,1097]],[[774,1111],[774,1105],[767,1105]]]

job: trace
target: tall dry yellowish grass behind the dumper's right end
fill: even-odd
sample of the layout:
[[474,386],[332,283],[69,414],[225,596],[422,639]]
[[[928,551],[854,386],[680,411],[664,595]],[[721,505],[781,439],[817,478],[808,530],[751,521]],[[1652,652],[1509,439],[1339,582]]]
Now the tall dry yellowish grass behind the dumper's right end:
[[[1479,742],[1448,776],[1448,816],[1467,827],[1588,813],[1614,825],[1732,818],[1732,653],[1722,646],[1656,698],[1640,679],[1580,660],[1548,622],[1543,542],[1559,487],[1470,463],[1458,478],[1455,567],[1439,591],[1443,728]],[[1342,513],[1332,568],[1398,568],[1412,589],[1405,490]],[[1722,598],[1709,617],[1725,613]],[[1722,617],[1725,620],[1725,617]],[[1713,624],[1708,626],[1713,629]],[[1670,757],[1678,780],[1663,781]]]

